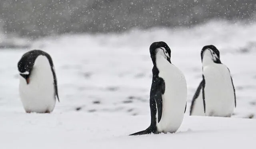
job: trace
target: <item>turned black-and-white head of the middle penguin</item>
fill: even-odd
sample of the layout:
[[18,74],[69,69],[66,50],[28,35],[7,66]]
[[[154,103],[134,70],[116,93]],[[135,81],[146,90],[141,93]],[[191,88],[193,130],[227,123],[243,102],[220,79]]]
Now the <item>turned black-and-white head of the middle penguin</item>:
[[164,57],[167,61],[171,63],[171,49],[164,41],[154,42],[150,45],[150,56],[155,65],[156,63],[156,55],[160,55]]

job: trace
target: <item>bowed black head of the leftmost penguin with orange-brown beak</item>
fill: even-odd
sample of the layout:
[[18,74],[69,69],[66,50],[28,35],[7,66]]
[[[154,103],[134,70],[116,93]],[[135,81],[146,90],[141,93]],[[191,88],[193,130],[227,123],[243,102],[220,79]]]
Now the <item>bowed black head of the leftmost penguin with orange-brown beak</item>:
[[44,52],[41,50],[28,51],[22,55],[20,61],[18,62],[18,71],[20,76],[26,80],[27,84],[30,82],[30,74],[33,70],[36,58],[39,55],[44,55]]

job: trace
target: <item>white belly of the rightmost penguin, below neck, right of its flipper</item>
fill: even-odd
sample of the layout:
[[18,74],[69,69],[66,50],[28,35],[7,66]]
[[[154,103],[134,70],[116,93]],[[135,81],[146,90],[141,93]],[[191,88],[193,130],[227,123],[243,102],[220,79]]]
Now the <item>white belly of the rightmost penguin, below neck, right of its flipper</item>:
[[204,67],[206,116],[231,116],[235,99],[230,73],[225,65]]

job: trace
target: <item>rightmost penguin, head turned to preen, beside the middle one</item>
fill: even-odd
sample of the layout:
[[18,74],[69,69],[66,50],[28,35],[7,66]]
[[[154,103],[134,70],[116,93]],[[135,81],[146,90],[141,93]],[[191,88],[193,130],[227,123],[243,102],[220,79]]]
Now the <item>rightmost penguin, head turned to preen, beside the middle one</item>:
[[190,115],[231,117],[236,108],[236,91],[228,67],[220,61],[220,51],[206,45],[201,51],[202,81],[190,106]]

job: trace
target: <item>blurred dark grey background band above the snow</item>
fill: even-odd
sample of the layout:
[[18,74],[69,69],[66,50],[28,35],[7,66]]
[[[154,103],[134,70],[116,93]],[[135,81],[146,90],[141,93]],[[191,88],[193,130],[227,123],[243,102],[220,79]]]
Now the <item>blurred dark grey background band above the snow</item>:
[[256,0],[0,0],[0,31],[31,38],[191,27],[211,19],[254,22]]

